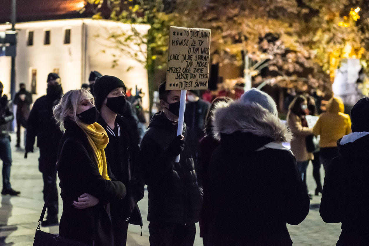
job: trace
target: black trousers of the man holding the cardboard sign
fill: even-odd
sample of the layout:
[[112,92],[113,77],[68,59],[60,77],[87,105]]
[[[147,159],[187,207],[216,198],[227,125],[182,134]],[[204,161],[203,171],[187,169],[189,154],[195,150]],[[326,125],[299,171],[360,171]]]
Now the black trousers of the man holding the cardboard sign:
[[150,246],[193,246],[196,226],[150,221],[149,232]]

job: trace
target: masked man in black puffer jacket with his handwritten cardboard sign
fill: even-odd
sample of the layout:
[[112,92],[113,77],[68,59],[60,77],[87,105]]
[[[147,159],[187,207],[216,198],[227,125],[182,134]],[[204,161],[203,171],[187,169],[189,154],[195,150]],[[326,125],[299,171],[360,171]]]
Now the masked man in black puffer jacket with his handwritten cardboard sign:
[[203,190],[195,171],[198,140],[183,117],[186,90],[207,89],[209,51],[210,29],[170,27],[166,83],[159,86],[163,111],[152,117],[140,152],[151,246],[192,246],[195,239]]

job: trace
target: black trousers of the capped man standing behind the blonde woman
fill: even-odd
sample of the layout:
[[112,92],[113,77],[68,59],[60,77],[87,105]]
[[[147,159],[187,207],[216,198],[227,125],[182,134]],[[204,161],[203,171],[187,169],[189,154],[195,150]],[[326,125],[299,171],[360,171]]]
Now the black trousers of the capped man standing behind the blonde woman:
[[40,157],[39,170],[42,172],[42,179],[44,180],[44,201],[47,206],[46,219],[54,218],[58,215],[58,189],[56,188],[56,174],[55,165],[58,159],[57,153],[53,153],[50,150],[39,148]]

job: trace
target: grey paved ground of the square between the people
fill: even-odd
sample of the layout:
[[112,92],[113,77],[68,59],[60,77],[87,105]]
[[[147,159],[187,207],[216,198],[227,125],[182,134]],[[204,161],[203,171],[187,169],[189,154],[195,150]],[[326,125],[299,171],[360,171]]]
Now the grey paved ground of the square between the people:
[[[38,150],[30,153],[24,159],[24,150],[16,149],[15,135],[12,135],[13,166],[11,170],[11,184],[15,190],[20,190],[19,197],[3,195],[0,207],[0,246],[31,246],[38,225],[38,218],[43,206],[42,176],[38,171]],[[324,173],[322,169],[322,173]],[[308,167],[308,186],[314,191],[315,184],[311,175],[311,164]],[[1,177],[0,177],[1,179]],[[61,204],[61,199],[59,200]],[[341,233],[340,224],[326,224],[319,216],[320,197],[314,196],[311,201],[307,218],[297,226],[288,226],[294,246],[334,246]],[[128,246],[148,246],[149,232],[147,217],[147,192],[145,198],[139,202],[142,218],[144,218],[143,235],[140,236],[139,226],[130,225],[128,228]],[[61,215],[61,208],[59,206]],[[43,231],[58,233],[58,226],[42,228]],[[199,238],[199,228],[195,246],[202,245]]]

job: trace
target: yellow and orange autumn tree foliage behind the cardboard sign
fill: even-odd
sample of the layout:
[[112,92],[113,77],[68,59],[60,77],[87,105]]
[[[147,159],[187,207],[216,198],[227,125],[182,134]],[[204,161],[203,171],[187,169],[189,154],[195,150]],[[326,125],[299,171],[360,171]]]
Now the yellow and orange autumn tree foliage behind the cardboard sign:
[[[96,8],[95,17],[101,18],[99,10],[106,4],[110,8],[108,18],[132,24],[130,34],[111,34],[112,43],[121,52],[130,52],[124,40],[147,45],[146,60],[140,62],[148,70],[150,94],[157,87],[158,71],[166,68],[170,25],[210,28],[211,62],[239,66],[242,80],[249,87],[269,84],[329,92],[329,74],[339,66],[340,59],[361,58],[368,69],[365,0],[89,2]],[[135,23],[150,24],[148,34],[135,32]],[[132,57],[140,57],[135,52]],[[118,63],[115,59],[114,65]]]

